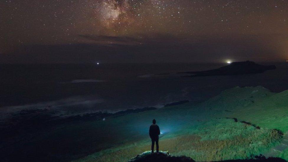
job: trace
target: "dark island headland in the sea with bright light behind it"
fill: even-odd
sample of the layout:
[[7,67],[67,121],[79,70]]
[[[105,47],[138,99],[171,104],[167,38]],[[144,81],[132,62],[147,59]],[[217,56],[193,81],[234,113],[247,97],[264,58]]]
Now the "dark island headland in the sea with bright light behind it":
[[187,74],[194,74],[189,77],[195,76],[215,76],[215,75],[239,75],[239,74],[253,74],[263,73],[267,70],[276,69],[275,65],[259,65],[252,61],[233,62],[230,65],[222,66],[218,69],[207,70],[207,71],[191,71],[183,72]]

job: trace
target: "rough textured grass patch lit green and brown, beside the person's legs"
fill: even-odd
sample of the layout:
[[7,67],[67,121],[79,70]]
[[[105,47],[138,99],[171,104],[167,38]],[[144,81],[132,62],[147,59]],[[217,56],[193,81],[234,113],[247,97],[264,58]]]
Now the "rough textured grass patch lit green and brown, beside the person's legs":
[[[203,123],[194,135],[166,138],[160,140],[159,144],[161,150],[169,150],[173,156],[189,156],[196,161],[219,161],[258,155],[278,144],[281,137],[276,130],[256,129],[245,123],[220,119]],[[80,161],[128,161],[149,149],[150,141],[124,145],[90,155]]]

